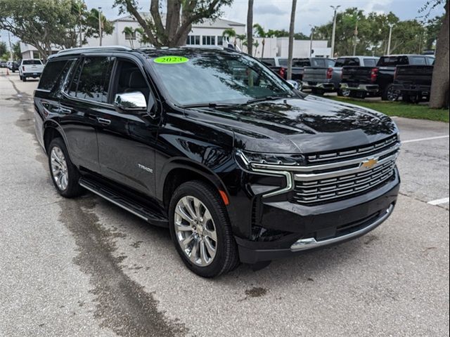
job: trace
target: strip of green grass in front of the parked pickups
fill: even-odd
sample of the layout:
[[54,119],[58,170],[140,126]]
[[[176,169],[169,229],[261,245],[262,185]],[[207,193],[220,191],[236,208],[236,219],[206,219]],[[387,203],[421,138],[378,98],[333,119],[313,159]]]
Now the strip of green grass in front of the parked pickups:
[[352,100],[351,98],[329,97],[340,102],[347,102],[354,105],[361,105],[361,107],[368,107],[369,109],[377,110],[387,114],[388,116],[415,118],[415,119],[430,119],[430,121],[445,121],[449,123],[448,109],[430,109],[427,105],[416,105],[402,102],[371,102],[368,100]]

